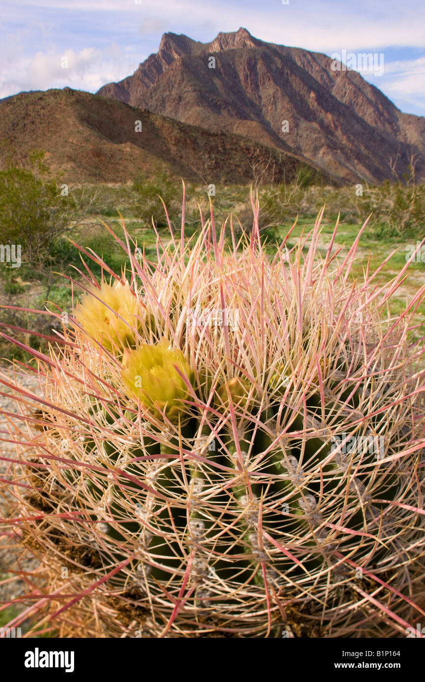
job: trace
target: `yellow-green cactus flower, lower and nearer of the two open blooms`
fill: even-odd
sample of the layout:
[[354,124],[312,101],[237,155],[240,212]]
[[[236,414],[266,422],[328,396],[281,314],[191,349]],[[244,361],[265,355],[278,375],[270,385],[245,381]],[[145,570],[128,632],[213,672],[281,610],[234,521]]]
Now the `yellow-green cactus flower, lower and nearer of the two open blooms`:
[[177,372],[193,381],[193,372],[179,349],[172,349],[170,341],[162,338],[156,345],[144,344],[136,351],[128,351],[123,362],[121,378],[133,396],[156,416],[166,411],[169,419],[177,417],[187,406],[189,391]]

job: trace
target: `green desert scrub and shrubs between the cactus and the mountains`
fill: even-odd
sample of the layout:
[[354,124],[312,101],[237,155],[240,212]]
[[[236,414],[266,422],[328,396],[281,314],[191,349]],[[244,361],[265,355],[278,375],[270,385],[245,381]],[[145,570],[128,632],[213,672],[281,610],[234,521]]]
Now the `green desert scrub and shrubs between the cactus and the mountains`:
[[[117,235],[122,235],[120,216],[138,246],[145,248],[154,261],[156,235],[152,219],[164,239],[168,238],[160,197],[166,204],[173,231],[180,228],[181,180],[173,177],[167,169],[154,168],[149,175],[141,173],[134,182],[121,185],[70,186],[68,194],[63,194],[61,180],[48,177],[44,152],[34,151],[31,164],[31,170],[10,165],[0,171],[0,241],[22,247],[22,265],[19,268],[8,263],[0,264],[0,303],[3,305],[46,309],[59,314],[70,310],[70,282],[63,276],[83,282],[80,272],[85,271],[80,252],[72,241],[101,256],[114,271],[128,268],[122,250],[103,224],[106,222]],[[217,226],[232,215],[237,235],[241,233],[241,226],[248,231],[252,228],[250,188],[218,184],[215,194],[211,192],[213,196],[209,196],[208,189],[207,186],[186,184],[188,237],[201,226],[199,206],[204,217],[208,218],[209,201],[214,207]],[[417,185],[414,175],[407,177],[405,183],[385,182],[379,187],[369,187],[364,183],[360,191],[359,186],[324,186],[314,171],[299,168],[293,183],[259,184],[257,191],[259,226],[270,254],[295,220],[297,225],[291,233],[291,244],[303,231],[308,233],[323,204],[323,236],[332,234],[339,214],[336,242],[345,245],[345,250],[372,213],[360,239],[361,258],[351,271],[355,278],[362,276],[368,258],[370,269],[373,269],[398,248],[381,272],[382,282],[390,280],[405,265],[409,246],[415,246],[416,241],[425,236],[425,186]],[[319,245],[323,250],[325,246],[325,242]],[[93,263],[91,269],[100,278],[102,267]],[[411,297],[424,283],[425,263],[419,259],[409,266],[403,295]],[[79,295],[80,290],[75,286],[74,297]],[[394,297],[394,312],[400,309],[400,305],[401,299]],[[424,314],[425,310],[418,311],[418,315]],[[1,312],[1,320],[38,333],[50,334],[52,327],[61,328],[59,320],[52,317],[5,308]],[[40,346],[38,338],[30,334],[23,335],[21,340]],[[13,352],[18,359],[26,357],[23,351],[14,349]],[[8,342],[0,340],[0,357],[9,357],[11,353]]]

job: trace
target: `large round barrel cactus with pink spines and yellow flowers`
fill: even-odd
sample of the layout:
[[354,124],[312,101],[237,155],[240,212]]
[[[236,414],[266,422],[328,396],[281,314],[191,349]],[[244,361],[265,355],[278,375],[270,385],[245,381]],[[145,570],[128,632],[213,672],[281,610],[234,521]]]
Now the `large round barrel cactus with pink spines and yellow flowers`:
[[124,226],[128,271],[102,263],[34,351],[38,409],[15,388],[10,526],[61,636],[392,637],[424,615],[424,291],[391,314],[409,263],[353,281],[358,238],[319,250],[322,216],[270,256],[253,207],[239,241],[212,212],[158,236],[155,264]]

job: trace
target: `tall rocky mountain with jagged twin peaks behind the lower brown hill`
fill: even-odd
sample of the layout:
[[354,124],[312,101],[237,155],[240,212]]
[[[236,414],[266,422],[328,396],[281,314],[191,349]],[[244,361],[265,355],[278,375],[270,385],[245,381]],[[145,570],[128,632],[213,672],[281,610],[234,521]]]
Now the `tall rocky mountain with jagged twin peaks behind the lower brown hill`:
[[345,181],[401,177],[412,154],[425,177],[425,118],[402,113],[360,74],[332,63],[243,28],[205,44],[165,33],[158,53],[98,94],[292,151]]

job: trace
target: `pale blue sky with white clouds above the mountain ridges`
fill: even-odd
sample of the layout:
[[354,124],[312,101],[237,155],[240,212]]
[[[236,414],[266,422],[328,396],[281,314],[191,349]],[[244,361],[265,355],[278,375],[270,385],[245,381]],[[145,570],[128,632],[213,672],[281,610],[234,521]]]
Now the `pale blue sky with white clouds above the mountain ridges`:
[[[424,0],[2,1],[0,98],[69,87],[96,92],[158,50],[162,33],[209,42],[244,27],[256,38],[322,52],[377,53],[361,71],[402,111],[425,116]],[[68,68],[62,68],[63,57]],[[383,62],[382,62],[383,59]]]

